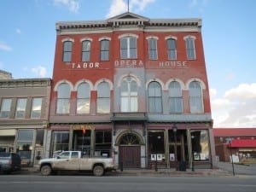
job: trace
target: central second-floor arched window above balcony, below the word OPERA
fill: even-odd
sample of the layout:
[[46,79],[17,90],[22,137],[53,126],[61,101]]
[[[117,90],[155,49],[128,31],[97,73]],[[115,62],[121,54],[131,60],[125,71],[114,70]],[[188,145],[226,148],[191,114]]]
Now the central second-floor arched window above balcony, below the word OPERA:
[[130,76],[121,83],[121,112],[137,112],[137,82]]

